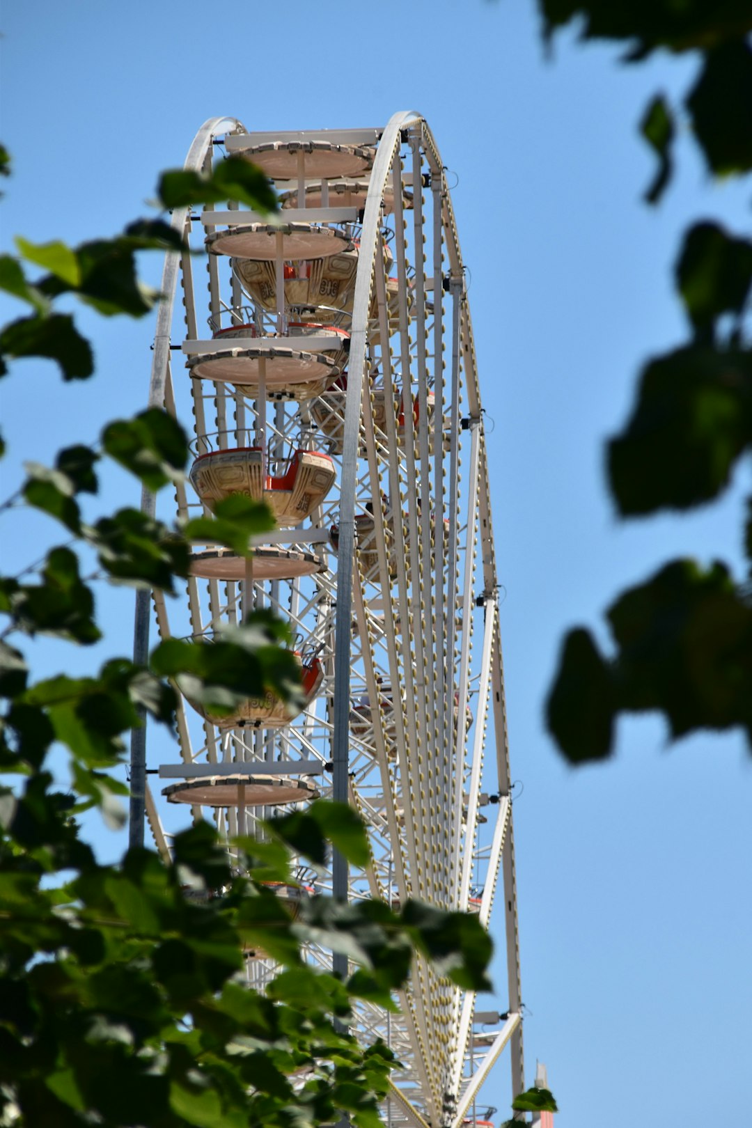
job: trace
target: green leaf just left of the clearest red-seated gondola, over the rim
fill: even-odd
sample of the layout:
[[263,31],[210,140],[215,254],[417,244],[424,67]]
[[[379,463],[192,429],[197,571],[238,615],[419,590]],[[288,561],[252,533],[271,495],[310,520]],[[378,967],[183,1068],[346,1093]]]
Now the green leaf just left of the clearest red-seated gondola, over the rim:
[[174,416],[157,407],[109,423],[101,441],[110,458],[152,491],[182,477],[188,457],[185,431]]

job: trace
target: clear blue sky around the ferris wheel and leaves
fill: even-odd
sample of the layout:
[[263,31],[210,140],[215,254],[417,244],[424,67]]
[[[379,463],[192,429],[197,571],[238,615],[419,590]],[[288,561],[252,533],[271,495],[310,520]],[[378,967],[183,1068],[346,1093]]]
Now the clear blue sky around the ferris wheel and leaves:
[[[567,626],[598,624],[618,590],[669,555],[719,554],[741,570],[746,467],[720,505],[636,525],[616,520],[602,474],[603,439],[625,418],[640,362],[684,336],[671,287],[679,231],[700,215],[749,226],[749,185],[710,185],[685,135],[664,203],[640,203],[653,174],[642,108],[658,89],[678,98],[692,64],[629,68],[573,35],[546,61],[531,0],[25,0],[6,6],[2,32],[15,159],[3,246],[16,232],[114,233],[147,211],[158,171],[183,162],[213,115],[256,130],[425,115],[457,176],[493,426],[512,763],[524,785],[514,813],[529,1079],[545,1060],[560,1128],[743,1117],[752,760],[742,739],[669,749],[657,719],[630,720],[612,763],[572,772],[542,723]],[[145,268],[156,281],[158,264]],[[63,388],[52,364],[27,361],[2,388],[2,496],[20,459],[91,441],[145,400],[151,323],[81,324],[95,336],[95,381]],[[113,477],[107,496],[138,504],[123,488]],[[21,515],[3,531],[3,556],[29,563],[38,536],[42,520]],[[101,607],[108,645],[127,652],[131,596],[103,593]],[[91,655],[45,643],[39,662],[86,669]],[[114,855],[120,839],[101,848]],[[501,1111],[506,1074],[504,1060],[484,1090]]]

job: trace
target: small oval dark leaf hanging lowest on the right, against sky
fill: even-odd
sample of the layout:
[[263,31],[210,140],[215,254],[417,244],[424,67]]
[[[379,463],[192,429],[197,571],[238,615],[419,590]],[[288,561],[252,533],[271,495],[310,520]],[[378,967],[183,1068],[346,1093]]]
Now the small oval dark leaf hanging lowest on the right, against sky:
[[569,631],[546,704],[548,730],[570,764],[611,755],[613,673],[587,631]]

